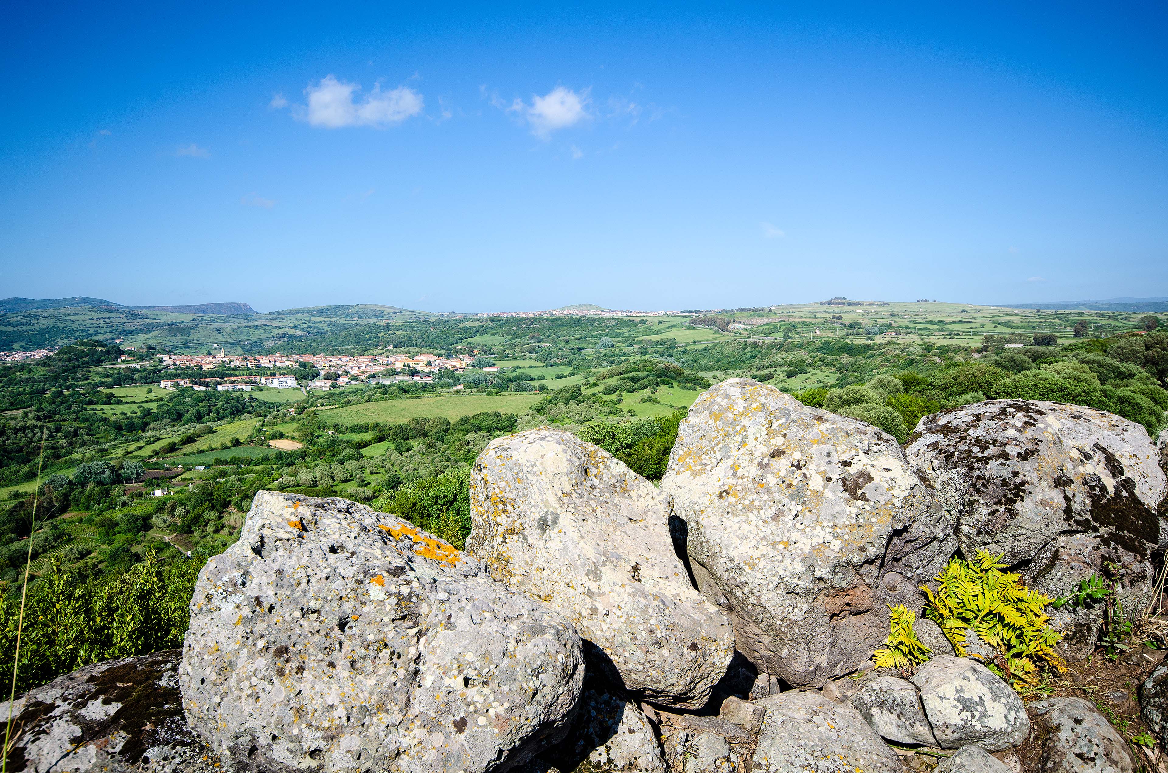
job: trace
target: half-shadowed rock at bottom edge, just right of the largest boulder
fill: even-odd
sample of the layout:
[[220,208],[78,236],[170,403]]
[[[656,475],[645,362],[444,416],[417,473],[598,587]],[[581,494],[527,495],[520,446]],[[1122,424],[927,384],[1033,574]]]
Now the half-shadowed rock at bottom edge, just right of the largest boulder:
[[593,677],[585,680],[568,737],[543,760],[589,773],[666,773],[661,744],[645,713]]

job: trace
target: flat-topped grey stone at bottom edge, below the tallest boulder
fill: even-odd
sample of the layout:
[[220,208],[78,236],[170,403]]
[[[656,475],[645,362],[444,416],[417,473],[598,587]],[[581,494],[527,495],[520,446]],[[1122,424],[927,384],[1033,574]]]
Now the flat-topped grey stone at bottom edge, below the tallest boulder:
[[788,690],[764,698],[755,773],[899,773],[901,758],[850,708],[819,692]]

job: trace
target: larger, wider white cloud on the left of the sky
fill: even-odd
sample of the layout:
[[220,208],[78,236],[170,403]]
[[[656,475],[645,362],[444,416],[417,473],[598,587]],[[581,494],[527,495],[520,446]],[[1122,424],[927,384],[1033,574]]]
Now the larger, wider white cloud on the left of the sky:
[[422,95],[406,86],[382,91],[381,83],[363,97],[356,83],[338,81],[332,75],[304,90],[308,98],[304,119],[312,126],[341,128],[345,126],[387,126],[399,124],[422,112]]

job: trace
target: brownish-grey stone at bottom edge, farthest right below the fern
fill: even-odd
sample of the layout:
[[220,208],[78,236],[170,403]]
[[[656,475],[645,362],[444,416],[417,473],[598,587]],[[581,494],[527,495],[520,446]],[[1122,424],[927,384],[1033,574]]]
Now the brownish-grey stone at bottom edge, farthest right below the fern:
[[1083,698],[1029,705],[1038,746],[1037,773],[1135,773],[1127,741]]

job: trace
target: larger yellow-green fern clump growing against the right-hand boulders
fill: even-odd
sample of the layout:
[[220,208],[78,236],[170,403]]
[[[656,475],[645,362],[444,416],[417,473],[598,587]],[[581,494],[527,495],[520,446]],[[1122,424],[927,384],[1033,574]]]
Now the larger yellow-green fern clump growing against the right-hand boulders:
[[1016,573],[1003,572],[1001,559],[979,550],[972,560],[950,560],[936,578],[936,592],[920,589],[929,597],[925,614],[940,625],[959,656],[965,655],[966,633],[972,628],[1000,653],[992,666],[1003,670],[1015,687],[1033,685],[1042,667],[1066,670],[1055,653],[1063,636],[1048,625],[1044,610],[1050,598],[1028,590]]

